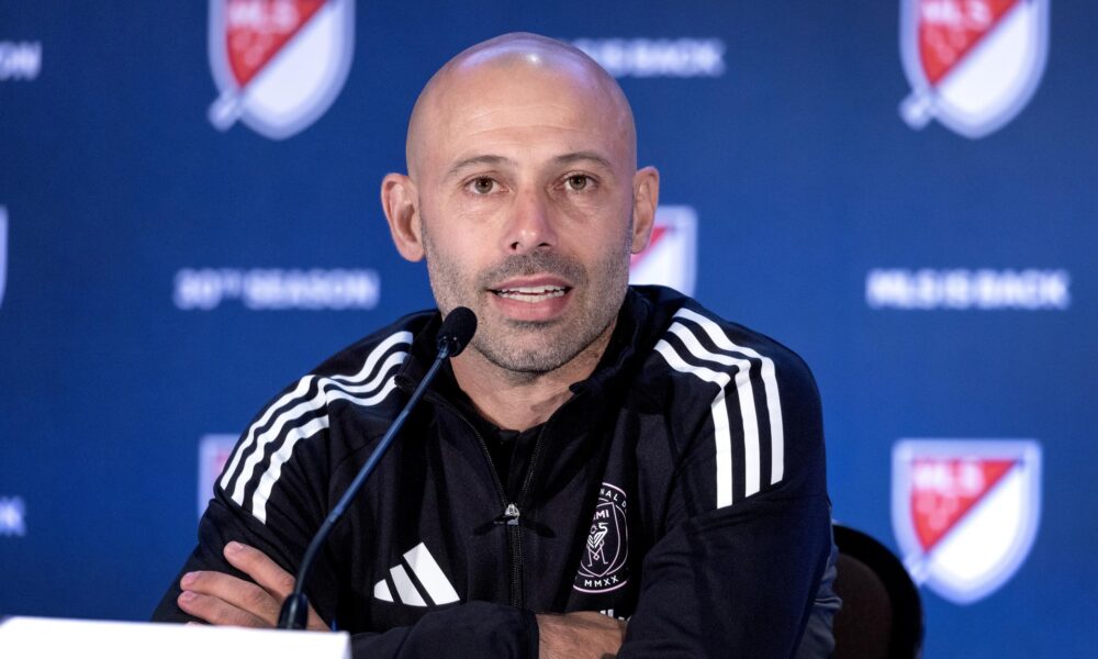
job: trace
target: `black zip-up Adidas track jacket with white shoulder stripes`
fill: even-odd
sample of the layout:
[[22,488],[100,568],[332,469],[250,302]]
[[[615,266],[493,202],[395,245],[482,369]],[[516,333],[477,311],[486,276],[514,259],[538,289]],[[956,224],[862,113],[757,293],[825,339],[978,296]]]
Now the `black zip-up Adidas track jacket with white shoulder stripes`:
[[[222,556],[239,540],[296,572],[429,366],[439,323],[405,316],[260,412],[183,571],[242,576]],[[440,381],[305,589],[356,657],[536,658],[534,614],[571,611],[628,618],[621,658],[796,651],[831,548],[819,394],[797,355],[632,287],[595,372],[516,447],[507,483],[484,424]],[[177,578],[154,619],[190,619],[179,592]]]

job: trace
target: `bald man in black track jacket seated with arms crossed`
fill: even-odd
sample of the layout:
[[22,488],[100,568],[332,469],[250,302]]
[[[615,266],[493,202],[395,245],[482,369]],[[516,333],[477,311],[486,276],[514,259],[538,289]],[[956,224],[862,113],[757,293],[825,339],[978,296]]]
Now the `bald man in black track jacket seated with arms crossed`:
[[[473,46],[416,102],[407,168],[381,190],[396,248],[479,326],[328,539],[310,627],[363,657],[794,654],[831,548],[818,394],[781,345],[628,287],[659,175],[614,79],[540,36]],[[439,322],[260,413],[156,619],[273,624]]]

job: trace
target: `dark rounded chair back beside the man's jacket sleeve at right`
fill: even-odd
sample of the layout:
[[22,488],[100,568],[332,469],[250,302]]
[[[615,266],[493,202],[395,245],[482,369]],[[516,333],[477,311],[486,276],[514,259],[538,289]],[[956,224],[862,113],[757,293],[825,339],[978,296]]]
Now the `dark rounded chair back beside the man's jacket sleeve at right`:
[[834,659],[918,658],[922,602],[907,570],[887,547],[834,525],[842,608],[834,617]]

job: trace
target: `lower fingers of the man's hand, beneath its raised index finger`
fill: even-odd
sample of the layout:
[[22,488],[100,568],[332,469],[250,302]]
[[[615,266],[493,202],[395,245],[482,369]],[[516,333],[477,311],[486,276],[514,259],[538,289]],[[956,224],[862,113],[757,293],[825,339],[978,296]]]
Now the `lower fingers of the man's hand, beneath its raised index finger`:
[[194,617],[214,625],[273,627],[281,600],[262,588],[221,572],[183,574],[177,603]]

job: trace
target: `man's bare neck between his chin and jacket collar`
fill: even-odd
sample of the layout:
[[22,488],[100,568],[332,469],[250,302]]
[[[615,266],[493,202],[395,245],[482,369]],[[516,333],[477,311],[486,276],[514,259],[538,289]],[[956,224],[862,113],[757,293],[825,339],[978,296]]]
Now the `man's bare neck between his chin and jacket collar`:
[[450,361],[453,377],[481,416],[501,428],[525,431],[545,423],[572,398],[569,387],[594,372],[615,325],[610,323],[571,361],[545,373],[509,371],[470,347]]

